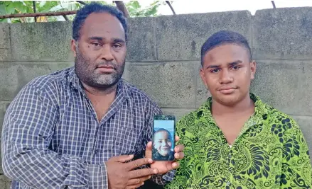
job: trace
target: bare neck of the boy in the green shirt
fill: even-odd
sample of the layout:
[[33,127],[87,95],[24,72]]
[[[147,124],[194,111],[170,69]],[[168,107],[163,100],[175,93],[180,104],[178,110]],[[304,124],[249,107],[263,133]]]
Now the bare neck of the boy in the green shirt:
[[213,99],[211,110],[214,115],[245,113],[249,110],[254,111],[254,101],[249,97],[249,93],[235,105],[225,105]]

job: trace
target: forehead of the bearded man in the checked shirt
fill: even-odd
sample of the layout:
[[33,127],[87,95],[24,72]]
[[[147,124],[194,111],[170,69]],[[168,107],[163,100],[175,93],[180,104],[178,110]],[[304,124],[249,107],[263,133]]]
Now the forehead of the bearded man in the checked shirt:
[[125,38],[122,23],[110,13],[91,13],[80,29],[81,38]]

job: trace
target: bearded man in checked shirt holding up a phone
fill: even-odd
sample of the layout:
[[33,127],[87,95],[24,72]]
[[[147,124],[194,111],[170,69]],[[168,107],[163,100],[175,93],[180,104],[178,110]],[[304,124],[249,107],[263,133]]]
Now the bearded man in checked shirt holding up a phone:
[[[75,67],[33,79],[6,111],[2,158],[12,188],[139,188],[149,178],[159,185],[171,181],[178,163],[151,160],[153,117],[161,109],[121,79],[127,52],[122,13],[84,6],[72,38]],[[176,159],[182,151],[183,145],[175,147]]]

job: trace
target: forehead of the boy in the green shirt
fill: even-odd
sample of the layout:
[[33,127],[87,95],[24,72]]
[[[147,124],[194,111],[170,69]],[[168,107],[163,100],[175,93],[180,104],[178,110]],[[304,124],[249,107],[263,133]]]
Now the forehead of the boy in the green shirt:
[[229,63],[236,60],[249,62],[248,59],[249,52],[242,45],[225,44],[208,51],[204,56],[204,64],[209,62]]

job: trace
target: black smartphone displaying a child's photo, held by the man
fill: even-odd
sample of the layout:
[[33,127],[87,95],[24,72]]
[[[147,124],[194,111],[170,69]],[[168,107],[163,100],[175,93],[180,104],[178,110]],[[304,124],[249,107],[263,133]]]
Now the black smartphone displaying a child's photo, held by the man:
[[154,115],[152,157],[154,161],[173,161],[176,135],[174,115]]

